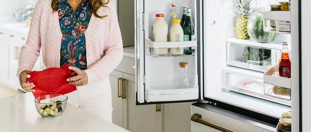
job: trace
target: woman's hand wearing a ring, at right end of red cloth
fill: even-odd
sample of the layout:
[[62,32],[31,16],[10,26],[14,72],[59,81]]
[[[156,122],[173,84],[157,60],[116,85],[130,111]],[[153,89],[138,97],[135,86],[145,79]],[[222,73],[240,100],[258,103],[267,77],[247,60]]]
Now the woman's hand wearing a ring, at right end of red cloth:
[[[70,83],[71,85],[74,85],[74,86],[83,86],[83,85],[86,85],[86,84],[87,84],[88,78],[87,78],[87,75],[86,75],[86,72],[85,72],[85,71],[82,71],[82,70],[80,70],[79,68],[73,67],[73,66],[70,66],[70,67],[68,67],[68,68],[71,69],[71,70],[73,70],[73,71],[75,71],[74,73],[76,73],[75,76],[72,75],[71,78],[68,78],[68,79],[67,79],[67,81],[69,81],[69,83]],[[80,82],[79,82],[79,80],[80,80]]]

